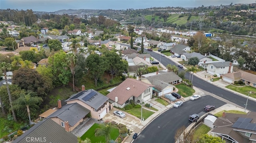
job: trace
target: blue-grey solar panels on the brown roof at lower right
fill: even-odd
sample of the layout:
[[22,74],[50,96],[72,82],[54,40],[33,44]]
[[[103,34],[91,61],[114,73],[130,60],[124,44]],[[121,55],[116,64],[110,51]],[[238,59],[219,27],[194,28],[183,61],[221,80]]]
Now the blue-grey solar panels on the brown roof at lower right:
[[234,123],[234,125],[232,125],[232,127],[256,131],[256,123],[250,123],[251,121],[251,118],[238,118],[238,120]]

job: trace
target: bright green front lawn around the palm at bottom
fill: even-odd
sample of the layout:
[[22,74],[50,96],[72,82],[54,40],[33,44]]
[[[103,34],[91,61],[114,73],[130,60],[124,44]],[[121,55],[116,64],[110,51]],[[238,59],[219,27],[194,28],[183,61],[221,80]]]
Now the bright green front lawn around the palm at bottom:
[[[91,143],[105,143],[105,137],[104,136],[100,136],[100,137],[95,137],[95,129],[99,127],[98,123],[94,123],[94,125],[92,125],[92,127],[90,127],[90,129],[88,129],[88,131],[86,131],[86,133],[84,133],[84,135],[82,135],[81,139],[85,140],[87,137],[91,140]],[[111,133],[110,133],[110,137],[113,140],[116,140],[116,138],[119,135],[119,130],[117,128],[114,128]]]

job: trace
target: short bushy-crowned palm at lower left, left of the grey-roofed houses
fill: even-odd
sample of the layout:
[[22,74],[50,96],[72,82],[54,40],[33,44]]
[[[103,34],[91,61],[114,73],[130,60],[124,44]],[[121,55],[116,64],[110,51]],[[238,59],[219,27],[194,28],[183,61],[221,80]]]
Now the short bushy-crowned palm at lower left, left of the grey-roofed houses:
[[22,107],[26,106],[27,112],[28,112],[29,124],[31,125],[29,106],[38,104],[38,103],[42,102],[43,100],[41,97],[31,96],[30,94],[31,94],[31,92],[28,92],[28,94],[22,93],[20,95],[20,97],[14,101],[14,103],[15,103],[14,108],[18,109],[18,108],[22,108]]

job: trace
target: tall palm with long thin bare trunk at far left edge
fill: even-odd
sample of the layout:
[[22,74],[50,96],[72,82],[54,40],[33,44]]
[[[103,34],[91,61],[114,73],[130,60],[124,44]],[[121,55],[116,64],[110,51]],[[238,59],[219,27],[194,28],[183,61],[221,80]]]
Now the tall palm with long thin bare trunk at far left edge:
[[11,92],[10,92],[10,88],[9,88],[9,84],[8,84],[7,76],[6,76],[6,72],[11,70],[11,64],[2,62],[2,63],[0,63],[0,68],[1,68],[1,71],[4,72],[4,79],[5,79],[6,89],[7,89],[8,96],[9,96],[10,106],[11,106],[11,110],[12,110],[12,116],[13,116],[13,119],[15,121],[17,121],[16,115],[14,112],[14,108],[13,108],[13,104],[12,104],[12,96],[11,96]]

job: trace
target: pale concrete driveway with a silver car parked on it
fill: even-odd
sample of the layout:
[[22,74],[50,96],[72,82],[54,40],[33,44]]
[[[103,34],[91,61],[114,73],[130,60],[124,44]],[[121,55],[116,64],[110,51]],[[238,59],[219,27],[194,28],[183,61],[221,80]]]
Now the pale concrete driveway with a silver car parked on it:
[[130,129],[131,131],[134,131],[140,125],[140,119],[139,118],[137,118],[133,115],[130,115],[126,112],[124,112],[124,114],[126,115],[124,118],[119,118],[118,116],[113,115],[113,112],[115,110],[118,110],[118,109],[113,108],[102,119],[104,121],[108,120],[110,122],[115,121],[116,123],[122,123],[122,124],[126,125],[127,129]]

